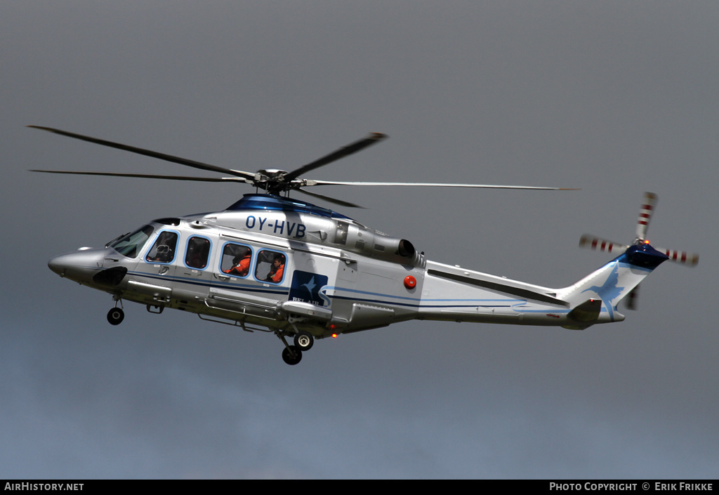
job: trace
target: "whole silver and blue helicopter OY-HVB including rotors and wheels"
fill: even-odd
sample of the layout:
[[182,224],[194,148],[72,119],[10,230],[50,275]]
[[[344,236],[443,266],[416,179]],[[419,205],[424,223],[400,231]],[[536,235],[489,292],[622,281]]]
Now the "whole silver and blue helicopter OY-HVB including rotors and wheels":
[[[110,324],[124,319],[123,301],[161,314],[166,308],[273,333],[282,358],[296,365],[314,341],[408,320],[559,326],[585,330],[620,322],[619,302],[636,308],[638,284],[664,261],[696,265],[698,255],[653,247],[646,240],[657,196],[645,193],[631,244],[584,235],[580,247],[616,257],[564,288],[553,289],[428,260],[409,240],[307,201],[349,201],[307,191],[310,186],[421,186],[566,190],[556,187],[464,183],[344,182],[303,176],[386,139],[352,142],[294,171],[255,173],[223,168],[51,127],[28,126],[226,176],[32,170],[42,173],[236,182],[255,193],[219,212],[165,217],[119,235],[104,247],[81,247],[47,263],[59,276],[111,294]],[[229,177],[228,177],[229,176]],[[262,191],[262,192],[260,192]]]

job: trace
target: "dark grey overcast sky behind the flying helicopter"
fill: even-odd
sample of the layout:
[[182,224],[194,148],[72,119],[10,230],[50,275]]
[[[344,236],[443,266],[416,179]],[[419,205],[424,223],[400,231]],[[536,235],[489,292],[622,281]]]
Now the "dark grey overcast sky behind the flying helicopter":
[[[0,478],[716,478],[719,3],[2,1]],[[545,286],[589,232],[701,253],[584,332],[408,322],[319,341],[148,314],[47,269],[244,186],[35,124],[255,171],[581,191],[342,189],[428,257]],[[321,204],[321,206],[331,206]]]

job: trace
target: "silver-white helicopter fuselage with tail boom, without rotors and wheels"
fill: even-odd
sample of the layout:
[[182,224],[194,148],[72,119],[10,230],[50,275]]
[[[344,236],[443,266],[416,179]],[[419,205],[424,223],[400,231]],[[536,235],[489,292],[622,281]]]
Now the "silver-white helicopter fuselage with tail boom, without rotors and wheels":
[[[248,196],[260,206],[269,197]],[[651,271],[620,257],[550,289],[426,260],[411,242],[329,210],[258,204],[158,219],[107,247],[48,264],[151,311],[169,307],[315,337],[409,319],[582,329],[623,319],[616,303]]]

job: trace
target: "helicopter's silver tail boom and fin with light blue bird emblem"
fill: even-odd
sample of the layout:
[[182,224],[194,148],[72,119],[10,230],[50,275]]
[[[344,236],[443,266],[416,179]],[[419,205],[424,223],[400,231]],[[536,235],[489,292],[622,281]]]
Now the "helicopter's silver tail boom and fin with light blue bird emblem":
[[624,315],[617,311],[619,301],[667,259],[647,243],[628,246],[614,260],[563,289],[428,261],[416,318],[572,330],[620,322]]

